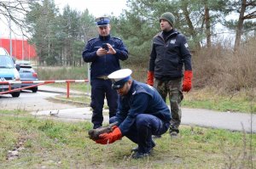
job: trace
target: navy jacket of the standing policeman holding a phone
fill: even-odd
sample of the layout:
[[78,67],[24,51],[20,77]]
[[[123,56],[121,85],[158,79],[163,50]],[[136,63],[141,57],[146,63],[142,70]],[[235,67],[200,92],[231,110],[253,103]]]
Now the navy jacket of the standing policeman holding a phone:
[[[116,54],[106,54],[105,56],[97,56],[96,51],[102,48],[103,43],[109,43]],[[121,39],[117,37],[96,37],[90,39],[84,47],[84,62],[91,63],[90,78],[94,79],[99,76],[108,76],[115,70],[120,69],[119,59],[128,59],[128,50]]]

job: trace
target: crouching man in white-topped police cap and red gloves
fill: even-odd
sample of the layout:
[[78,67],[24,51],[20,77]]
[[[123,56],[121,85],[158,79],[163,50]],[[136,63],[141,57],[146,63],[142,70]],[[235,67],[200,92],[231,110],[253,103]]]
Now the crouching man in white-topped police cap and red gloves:
[[97,144],[112,144],[126,136],[138,145],[133,158],[150,155],[155,144],[152,135],[165,133],[170,127],[171,112],[160,94],[147,84],[131,79],[131,70],[114,71],[108,76],[119,93],[119,108],[110,123],[118,121],[113,132],[103,133]]

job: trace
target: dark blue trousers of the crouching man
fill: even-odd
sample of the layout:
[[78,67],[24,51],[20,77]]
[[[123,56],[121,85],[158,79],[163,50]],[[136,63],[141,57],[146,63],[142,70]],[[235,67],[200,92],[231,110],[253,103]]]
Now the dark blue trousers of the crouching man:
[[[109,120],[110,123],[114,121],[116,121],[115,117]],[[160,118],[154,115],[140,114],[137,115],[136,121],[132,124],[130,130],[123,136],[138,144],[138,152],[148,153],[154,147],[152,135],[161,135],[169,127],[170,122],[161,121]]]

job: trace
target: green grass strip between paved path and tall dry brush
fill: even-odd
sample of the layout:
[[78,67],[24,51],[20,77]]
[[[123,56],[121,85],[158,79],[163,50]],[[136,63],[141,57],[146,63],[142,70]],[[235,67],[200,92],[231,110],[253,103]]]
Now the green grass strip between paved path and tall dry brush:
[[219,95],[217,89],[194,90],[185,93],[182,106],[256,114],[256,97],[253,96],[255,93],[250,94],[248,91],[241,91],[233,95],[226,93]]

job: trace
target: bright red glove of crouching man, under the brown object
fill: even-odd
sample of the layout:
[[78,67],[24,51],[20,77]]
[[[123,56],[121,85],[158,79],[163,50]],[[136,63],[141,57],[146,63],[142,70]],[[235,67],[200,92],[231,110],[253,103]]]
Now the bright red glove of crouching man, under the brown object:
[[99,139],[96,140],[97,144],[113,144],[116,140],[122,138],[122,132],[119,127],[113,126],[113,132],[103,133],[99,136]]

